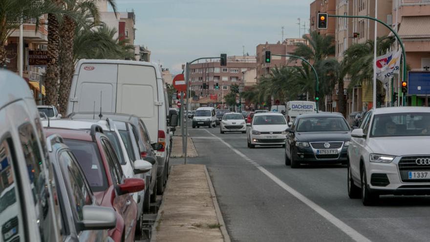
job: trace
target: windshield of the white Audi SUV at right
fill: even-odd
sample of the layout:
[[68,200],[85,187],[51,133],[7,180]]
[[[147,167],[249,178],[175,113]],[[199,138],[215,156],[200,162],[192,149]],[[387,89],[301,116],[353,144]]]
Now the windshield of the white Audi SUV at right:
[[370,130],[371,137],[429,135],[429,112],[377,114]]

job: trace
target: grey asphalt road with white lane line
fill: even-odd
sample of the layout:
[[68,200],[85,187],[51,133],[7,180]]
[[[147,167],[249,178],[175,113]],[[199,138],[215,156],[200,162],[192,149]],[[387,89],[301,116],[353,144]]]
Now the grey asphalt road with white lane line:
[[[429,241],[430,198],[346,193],[346,167],[284,164],[283,148],[247,148],[246,134],[189,129],[232,241]],[[183,162],[173,159],[172,163]]]

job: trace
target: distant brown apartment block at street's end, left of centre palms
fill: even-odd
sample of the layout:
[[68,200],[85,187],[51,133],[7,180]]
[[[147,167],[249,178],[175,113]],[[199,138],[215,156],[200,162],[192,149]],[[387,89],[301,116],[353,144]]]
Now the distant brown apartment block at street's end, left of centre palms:
[[[221,103],[232,85],[244,86],[242,72],[255,68],[255,56],[230,56],[227,58],[227,66],[220,66],[219,60],[195,63],[190,65],[190,88],[200,97],[216,94],[217,100],[214,102]],[[204,89],[203,86],[206,85],[208,88]]]

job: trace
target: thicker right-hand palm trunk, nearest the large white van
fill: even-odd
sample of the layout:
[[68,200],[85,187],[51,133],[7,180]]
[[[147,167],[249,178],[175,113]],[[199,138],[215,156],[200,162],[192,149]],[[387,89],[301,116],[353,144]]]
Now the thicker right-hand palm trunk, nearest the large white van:
[[60,29],[61,51],[60,51],[60,107],[59,111],[65,115],[70,93],[70,84],[75,70],[73,63],[73,40],[75,38],[75,22],[68,16],[64,17],[64,25]]

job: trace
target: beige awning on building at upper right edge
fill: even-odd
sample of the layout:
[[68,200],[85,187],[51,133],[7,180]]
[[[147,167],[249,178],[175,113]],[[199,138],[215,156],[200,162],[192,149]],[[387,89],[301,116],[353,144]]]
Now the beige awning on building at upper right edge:
[[405,39],[430,38],[430,16],[402,17],[399,35]]

